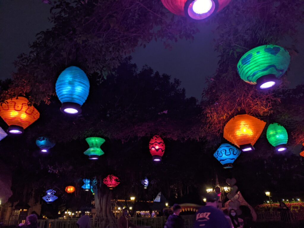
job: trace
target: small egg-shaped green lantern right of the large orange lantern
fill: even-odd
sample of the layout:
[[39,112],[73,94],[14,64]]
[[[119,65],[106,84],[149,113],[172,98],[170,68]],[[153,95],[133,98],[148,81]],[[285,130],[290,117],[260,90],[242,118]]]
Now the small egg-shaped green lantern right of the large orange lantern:
[[277,151],[287,150],[288,134],[285,127],[278,123],[271,123],[267,128],[268,142],[275,147]]

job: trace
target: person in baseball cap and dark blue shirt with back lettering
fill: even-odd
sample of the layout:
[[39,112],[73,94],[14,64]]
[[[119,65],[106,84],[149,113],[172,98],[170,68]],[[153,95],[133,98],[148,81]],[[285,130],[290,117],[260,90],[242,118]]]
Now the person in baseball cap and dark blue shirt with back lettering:
[[219,196],[216,192],[208,192],[206,196],[206,206],[201,207],[196,212],[195,228],[231,228],[224,213],[219,210]]

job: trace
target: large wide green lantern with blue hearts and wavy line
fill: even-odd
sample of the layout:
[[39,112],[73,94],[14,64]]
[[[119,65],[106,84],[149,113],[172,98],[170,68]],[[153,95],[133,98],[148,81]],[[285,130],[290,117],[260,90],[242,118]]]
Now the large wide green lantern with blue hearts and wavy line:
[[259,90],[280,85],[279,78],[287,71],[288,51],[278,45],[262,45],[246,52],[237,64],[240,77]]

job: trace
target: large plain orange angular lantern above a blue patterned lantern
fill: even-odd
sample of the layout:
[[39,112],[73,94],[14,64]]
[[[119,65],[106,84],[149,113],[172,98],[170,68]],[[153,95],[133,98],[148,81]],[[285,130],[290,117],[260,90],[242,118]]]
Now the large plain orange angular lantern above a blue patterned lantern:
[[243,151],[254,150],[266,123],[247,114],[234,116],[224,127],[224,138]]

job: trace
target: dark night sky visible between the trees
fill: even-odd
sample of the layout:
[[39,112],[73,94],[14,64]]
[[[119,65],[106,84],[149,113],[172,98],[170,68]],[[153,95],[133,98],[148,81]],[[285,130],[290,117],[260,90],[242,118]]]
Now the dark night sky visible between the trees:
[[[20,53],[29,52],[28,44],[35,40],[36,33],[51,27],[49,9],[41,0],[0,0],[0,79],[11,77],[13,61]],[[179,40],[172,50],[164,49],[161,41],[152,42],[146,48],[138,47],[132,54],[133,62],[139,69],[147,64],[160,73],[180,79],[187,96],[200,100],[205,77],[216,71],[218,55],[212,45],[212,25],[202,23],[200,30],[192,43]],[[298,40],[304,40],[304,32]],[[304,42],[296,47],[300,54],[292,60],[287,76],[291,87],[304,83]]]

